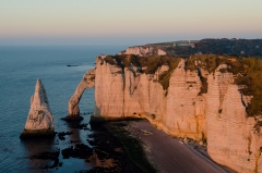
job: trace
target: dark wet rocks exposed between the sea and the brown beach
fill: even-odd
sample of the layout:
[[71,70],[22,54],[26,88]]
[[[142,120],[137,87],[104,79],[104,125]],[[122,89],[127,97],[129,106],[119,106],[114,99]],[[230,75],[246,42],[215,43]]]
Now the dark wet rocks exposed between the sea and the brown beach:
[[[69,122],[69,125],[80,124],[79,122]],[[108,131],[105,126],[107,123],[90,124],[92,132],[86,141],[70,141],[70,146],[67,148],[60,149],[62,155],[62,160],[66,159],[83,159],[91,168],[87,170],[82,170],[80,172],[144,172],[135,165],[128,157],[124,148],[121,143]],[[79,128],[83,125],[80,124]],[[58,133],[63,137],[64,135],[71,135],[71,132],[61,132]],[[63,139],[58,139],[63,140]],[[66,139],[67,140],[67,139]],[[39,155],[34,156],[34,159],[49,159],[53,160],[53,165],[56,168],[61,166],[59,160],[56,159],[57,152],[40,152]],[[48,166],[51,168],[52,165]]]

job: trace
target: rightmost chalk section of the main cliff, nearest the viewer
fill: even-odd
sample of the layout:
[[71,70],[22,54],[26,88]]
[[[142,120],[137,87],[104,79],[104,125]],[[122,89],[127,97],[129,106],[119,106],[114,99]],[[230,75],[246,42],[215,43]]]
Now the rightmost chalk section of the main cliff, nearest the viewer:
[[262,136],[248,118],[239,86],[228,73],[209,76],[207,150],[216,162],[238,172],[261,172]]

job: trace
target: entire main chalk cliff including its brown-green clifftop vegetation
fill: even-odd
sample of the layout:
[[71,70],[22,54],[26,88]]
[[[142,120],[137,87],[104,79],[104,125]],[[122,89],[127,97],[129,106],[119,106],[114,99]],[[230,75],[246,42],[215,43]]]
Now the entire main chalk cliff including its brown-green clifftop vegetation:
[[94,116],[146,118],[207,145],[221,164],[262,172],[261,74],[262,60],[253,58],[98,57]]

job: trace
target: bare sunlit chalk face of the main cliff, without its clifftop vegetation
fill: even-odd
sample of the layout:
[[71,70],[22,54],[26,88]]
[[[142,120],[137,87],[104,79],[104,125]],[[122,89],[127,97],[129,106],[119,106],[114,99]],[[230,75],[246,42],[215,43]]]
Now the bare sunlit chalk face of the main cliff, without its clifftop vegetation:
[[[246,112],[252,97],[239,91],[236,75],[222,71],[227,65],[209,73],[204,67],[187,70],[186,63],[180,60],[164,89],[158,81],[168,64],[146,74],[141,71],[144,66],[121,66],[98,57],[94,116],[143,116],[169,135],[207,143],[209,155],[221,164],[243,173],[262,172],[261,118]],[[201,91],[202,77],[207,92]]]

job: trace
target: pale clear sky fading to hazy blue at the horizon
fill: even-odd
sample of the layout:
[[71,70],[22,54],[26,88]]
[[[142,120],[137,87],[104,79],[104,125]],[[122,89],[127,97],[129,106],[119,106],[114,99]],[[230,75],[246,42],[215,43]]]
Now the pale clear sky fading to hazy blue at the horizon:
[[0,0],[0,45],[262,38],[262,0]]

